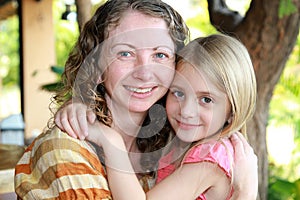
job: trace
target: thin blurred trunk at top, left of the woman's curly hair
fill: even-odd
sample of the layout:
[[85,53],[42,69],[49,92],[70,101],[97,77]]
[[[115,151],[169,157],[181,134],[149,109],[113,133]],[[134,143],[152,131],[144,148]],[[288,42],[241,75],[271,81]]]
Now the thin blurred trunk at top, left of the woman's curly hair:
[[76,8],[77,8],[77,21],[79,30],[81,30],[90,18],[91,18],[91,10],[92,10],[92,2],[91,0],[75,0]]

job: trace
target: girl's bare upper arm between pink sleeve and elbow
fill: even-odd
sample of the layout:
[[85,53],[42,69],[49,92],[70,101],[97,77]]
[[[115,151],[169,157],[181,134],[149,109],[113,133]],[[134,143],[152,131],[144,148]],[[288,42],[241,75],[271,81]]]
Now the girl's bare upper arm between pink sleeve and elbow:
[[206,199],[226,199],[230,179],[217,164],[189,163],[175,170],[147,193],[149,199],[194,200],[205,193]]

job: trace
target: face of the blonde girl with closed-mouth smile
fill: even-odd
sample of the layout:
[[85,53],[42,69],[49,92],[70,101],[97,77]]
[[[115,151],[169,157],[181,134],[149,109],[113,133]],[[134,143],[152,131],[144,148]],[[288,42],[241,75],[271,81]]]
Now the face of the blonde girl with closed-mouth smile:
[[168,119],[177,137],[195,142],[218,134],[230,117],[227,95],[190,64],[179,64],[167,98]]

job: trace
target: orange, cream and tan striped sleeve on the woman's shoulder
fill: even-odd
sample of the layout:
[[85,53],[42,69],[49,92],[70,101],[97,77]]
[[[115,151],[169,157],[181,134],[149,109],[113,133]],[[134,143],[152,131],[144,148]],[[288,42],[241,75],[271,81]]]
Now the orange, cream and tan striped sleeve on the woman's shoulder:
[[15,168],[19,199],[112,199],[93,147],[54,128],[25,150]]

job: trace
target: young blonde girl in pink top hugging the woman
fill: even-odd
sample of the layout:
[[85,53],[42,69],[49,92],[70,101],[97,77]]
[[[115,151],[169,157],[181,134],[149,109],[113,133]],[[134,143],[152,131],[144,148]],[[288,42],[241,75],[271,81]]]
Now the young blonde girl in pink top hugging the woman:
[[114,199],[236,199],[229,136],[246,134],[255,108],[250,56],[238,40],[222,34],[190,42],[179,56],[166,102],[176,136],[164,149],[154,188],[142,190],[133,155],[117,132],[100,123],[89,126],[87,139],[103,147]]

